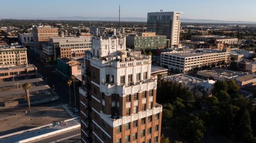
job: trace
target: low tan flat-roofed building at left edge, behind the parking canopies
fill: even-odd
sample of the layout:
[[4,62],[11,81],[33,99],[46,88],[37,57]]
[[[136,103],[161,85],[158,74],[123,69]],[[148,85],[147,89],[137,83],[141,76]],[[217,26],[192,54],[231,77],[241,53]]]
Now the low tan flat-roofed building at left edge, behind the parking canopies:
[[37,77],[37,68],[33,64],[0,67],[0,82],[31,79]]

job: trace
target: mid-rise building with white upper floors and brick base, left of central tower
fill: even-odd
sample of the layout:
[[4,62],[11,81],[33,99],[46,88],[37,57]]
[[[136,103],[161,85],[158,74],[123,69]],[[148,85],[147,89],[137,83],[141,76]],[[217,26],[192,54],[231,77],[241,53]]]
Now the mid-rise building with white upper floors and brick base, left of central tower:
[[91,49],[91,43],[91,36],[49,38],[49,42],[43,44],[44,57],[54,61],[63,57],[83,57],[84,51]]

